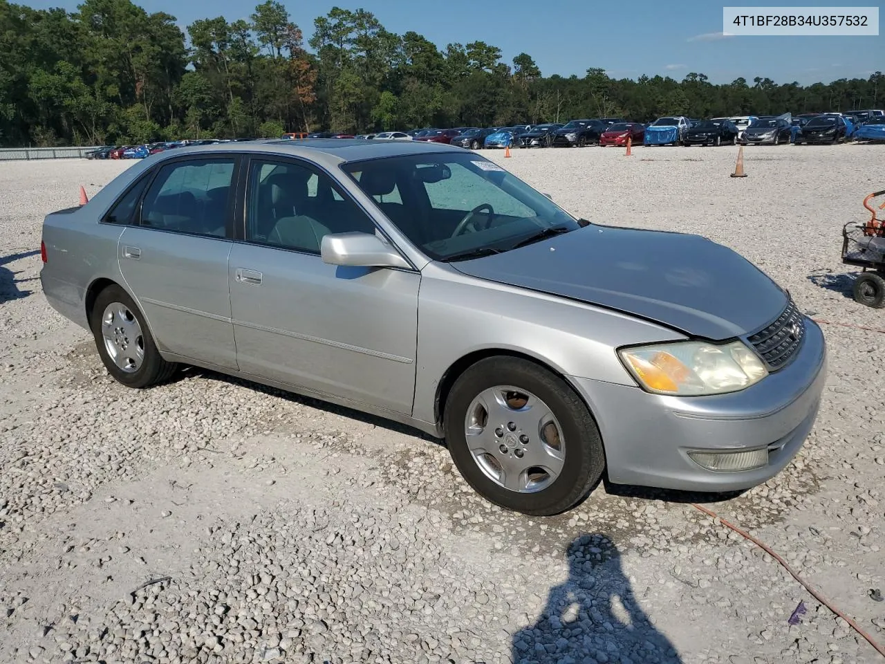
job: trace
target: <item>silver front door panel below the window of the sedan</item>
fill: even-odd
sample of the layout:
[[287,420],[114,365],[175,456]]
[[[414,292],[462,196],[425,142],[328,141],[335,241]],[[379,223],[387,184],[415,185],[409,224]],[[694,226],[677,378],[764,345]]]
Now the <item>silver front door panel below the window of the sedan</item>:
[[[261,283],[237,280],[243,268]],[[235,243],[229,269],[242,372],[412,413],[419,273],[248,243]]]

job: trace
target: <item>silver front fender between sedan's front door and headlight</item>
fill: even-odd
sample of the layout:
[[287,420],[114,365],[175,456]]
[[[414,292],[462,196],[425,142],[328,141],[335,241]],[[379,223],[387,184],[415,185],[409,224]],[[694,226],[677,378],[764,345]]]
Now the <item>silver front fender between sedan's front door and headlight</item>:
[[443,263],[422,271],[412,416],[436,421],[440,383],[477,351],[527,355],[561,375],[635,385],[614,349],[684,339],[626,313],[460,274]]

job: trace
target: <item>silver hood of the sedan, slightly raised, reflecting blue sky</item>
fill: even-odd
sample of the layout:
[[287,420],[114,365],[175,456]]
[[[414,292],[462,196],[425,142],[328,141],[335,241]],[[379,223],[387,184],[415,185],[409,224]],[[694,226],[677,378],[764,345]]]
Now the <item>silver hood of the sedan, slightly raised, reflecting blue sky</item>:
[[781,287],[735,251],[701,235],[663,231],[590,225],[451,266],[708,339],[755,332],[788,301]]

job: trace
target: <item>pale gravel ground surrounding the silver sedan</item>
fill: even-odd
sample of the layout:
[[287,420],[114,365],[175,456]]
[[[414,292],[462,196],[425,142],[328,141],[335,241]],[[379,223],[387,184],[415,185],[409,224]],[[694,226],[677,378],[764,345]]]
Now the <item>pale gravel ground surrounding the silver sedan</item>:
[[[707,235],[820,320],[850,299],[843,223],[885,147],[487,153],[590,220]],[[825,324],[797,459],[730,500],[598,488],[538,519],[473,494],[435,441],[190,371],[112,382],[40,292],[40,223],[127,163],[0,163],[0,660],[872,662],[742,524],[885,642],[885,336]],[[874,593],[873,593],[874,594]],[[808,611],[790,626],[799,601]]]

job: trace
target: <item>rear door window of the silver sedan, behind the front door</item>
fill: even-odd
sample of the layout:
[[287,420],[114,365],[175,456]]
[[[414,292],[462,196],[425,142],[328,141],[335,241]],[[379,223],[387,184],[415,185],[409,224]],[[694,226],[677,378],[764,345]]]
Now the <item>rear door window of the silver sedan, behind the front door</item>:
[[233,178],[233,158],[194,159],[163,166],[144,197],[141,225],[225,237]]

